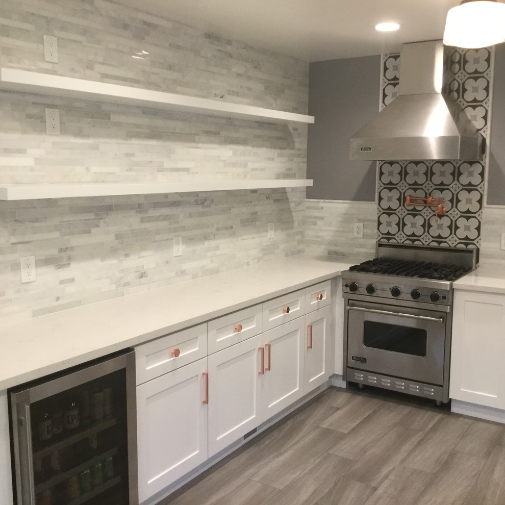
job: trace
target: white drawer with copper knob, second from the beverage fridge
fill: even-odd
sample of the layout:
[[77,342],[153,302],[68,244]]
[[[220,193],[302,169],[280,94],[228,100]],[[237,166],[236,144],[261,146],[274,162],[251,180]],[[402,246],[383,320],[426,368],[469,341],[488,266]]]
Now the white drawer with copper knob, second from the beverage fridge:
[[209,354],[259,335],[262,331],[261,305],[209,321]]

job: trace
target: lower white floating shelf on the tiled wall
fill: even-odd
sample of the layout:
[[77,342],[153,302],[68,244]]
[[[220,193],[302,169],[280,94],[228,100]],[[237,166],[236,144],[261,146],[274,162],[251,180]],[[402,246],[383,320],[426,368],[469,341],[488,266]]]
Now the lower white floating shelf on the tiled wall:
[[0,186],[0,200],[38,200],[83,196],[150,195],[160,193],[193,193],[238,189],[303,188],[312,179],[234,180],[155,183],[40,184]]

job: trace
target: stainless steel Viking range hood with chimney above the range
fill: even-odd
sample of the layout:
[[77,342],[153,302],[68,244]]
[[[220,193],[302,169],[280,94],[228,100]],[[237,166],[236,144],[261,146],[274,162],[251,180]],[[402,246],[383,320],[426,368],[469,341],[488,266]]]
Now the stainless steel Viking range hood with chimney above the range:
[[398,96],[350,139],[351,160],[482,159],[482,136],[441,94],[442,41],[406,44]]

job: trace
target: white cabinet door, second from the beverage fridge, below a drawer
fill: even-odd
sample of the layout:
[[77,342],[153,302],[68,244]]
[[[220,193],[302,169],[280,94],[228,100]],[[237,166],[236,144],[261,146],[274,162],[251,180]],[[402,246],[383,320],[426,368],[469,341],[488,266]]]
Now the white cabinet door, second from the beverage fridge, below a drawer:
[[209,457],[261,424],[262,336],[209,356]]

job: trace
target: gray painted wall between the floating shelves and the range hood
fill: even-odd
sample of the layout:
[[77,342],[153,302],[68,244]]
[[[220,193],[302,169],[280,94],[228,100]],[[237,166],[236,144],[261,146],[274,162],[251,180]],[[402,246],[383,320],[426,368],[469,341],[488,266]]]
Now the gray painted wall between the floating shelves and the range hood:
[[378,113],[380,70],[380,56],[310,64],[307,198],[375,200],[376,162],[349,160],[349,139]]

